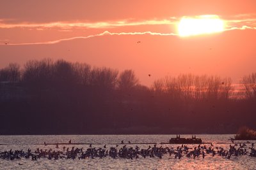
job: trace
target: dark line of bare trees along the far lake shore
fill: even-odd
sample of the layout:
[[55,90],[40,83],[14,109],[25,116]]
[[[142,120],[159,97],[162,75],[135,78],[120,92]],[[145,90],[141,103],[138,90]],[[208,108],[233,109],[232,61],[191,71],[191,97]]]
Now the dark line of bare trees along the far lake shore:
[[146,87],[131,69],[119,72],[43,59],[1,68],[0,83],[1,134],[227,133],[241,125],[255,128],[256,73],[244,76],[239,86],[230,78],[180,74]]

